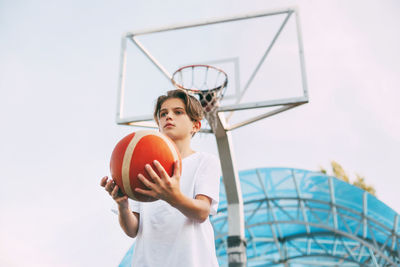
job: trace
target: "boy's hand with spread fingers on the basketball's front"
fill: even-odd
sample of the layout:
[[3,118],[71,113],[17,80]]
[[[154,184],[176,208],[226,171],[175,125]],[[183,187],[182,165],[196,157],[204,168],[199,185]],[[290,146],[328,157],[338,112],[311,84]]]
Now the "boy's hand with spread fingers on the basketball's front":
[[149,190],[136,188],[135,191],[146,196],[165,200],[171,205],[175,204],[179,201],[178,199],[181,196],[181,190],[179,187],[181,166],[179,165],[178,160],[174,162],[174,173],[170,177],[158,161],[154,161],[154,166],[160,175],[153,170],[150,164],[147,164],[145,169],[154,182],[149,181],[144,175],[139,174],[138,178],[149,188]]

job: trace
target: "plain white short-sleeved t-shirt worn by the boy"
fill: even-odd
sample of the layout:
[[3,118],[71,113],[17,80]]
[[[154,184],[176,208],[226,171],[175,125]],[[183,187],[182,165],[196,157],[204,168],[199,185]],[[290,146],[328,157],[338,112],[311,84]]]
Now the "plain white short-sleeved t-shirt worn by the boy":
[[[219,160],[211,154],[196,152],[182,160],[180,189],[187,197],[210,197],[210,214],[214,215],[218,209],[220,176]],[[131,200],[131,209],[140,213],[134,267],[218,266],[209,218],[202,223],[191,220],[163,200]]]

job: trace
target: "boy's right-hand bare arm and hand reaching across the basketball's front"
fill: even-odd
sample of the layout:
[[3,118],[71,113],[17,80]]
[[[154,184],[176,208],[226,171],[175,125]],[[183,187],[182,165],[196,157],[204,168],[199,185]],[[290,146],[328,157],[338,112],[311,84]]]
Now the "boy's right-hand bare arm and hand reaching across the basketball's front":
[[158,161],[154,161],[154,165],[160,175],[158,175],[150,165],[146,165],[146,171],[153,179],[154,183],[147,180],[142,174],[139,174],[139,179],[150,190],[136,188],[136,192],[153,198],[162,199],[190,219],[200,222],[205,221],[210,214],[211,198],[205,195],[197,195],[195,199],[192,199],[182,194],[179,188],[179,161],[176,161],[174,164],[174,174],[172,177],[168,175]]

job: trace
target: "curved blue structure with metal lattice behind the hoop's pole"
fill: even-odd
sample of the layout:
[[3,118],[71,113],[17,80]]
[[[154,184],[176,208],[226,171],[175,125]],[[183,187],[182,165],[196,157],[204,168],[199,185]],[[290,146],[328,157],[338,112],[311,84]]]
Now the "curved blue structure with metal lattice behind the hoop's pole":
[[[371,194],[319,172],[260,168],[239,173],[247,266],[400,266],[399,215]],[[211,218],[227,266],[227,202]],[[130,266],[132,248],[120,266]]]

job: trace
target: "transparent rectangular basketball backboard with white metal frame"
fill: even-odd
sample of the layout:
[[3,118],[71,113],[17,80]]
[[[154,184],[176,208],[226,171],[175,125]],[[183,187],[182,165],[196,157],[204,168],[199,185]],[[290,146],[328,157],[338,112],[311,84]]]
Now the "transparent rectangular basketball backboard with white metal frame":
[[226,130],[308,102],[298,12],[286,8],[125,33],[117,123],[156,127],[156,98],[174,89],[178,68],[192,64],[227,73],[218,108]]

